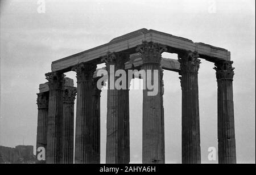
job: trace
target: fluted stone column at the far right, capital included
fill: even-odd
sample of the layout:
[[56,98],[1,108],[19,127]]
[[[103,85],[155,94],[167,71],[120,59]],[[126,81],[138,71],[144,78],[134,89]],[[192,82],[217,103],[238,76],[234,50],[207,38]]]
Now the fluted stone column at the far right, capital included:
[[218,84],[218,163],[236,163],[232,61],[215,63]]

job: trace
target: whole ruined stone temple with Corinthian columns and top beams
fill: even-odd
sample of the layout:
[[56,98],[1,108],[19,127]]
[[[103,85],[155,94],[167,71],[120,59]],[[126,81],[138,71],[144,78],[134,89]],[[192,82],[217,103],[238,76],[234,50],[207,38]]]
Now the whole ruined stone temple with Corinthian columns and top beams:
[[[176,53],[177,59],[162,58]],[[38,163],[100,163],[100,95],[97,64],[115,70],[157,70],[158,93],[143,89],[142,163],[164,163],[163,70],[180,75],[182,91],[182,163],[201,163],[199,90],[200,59],[215,64],[218,110],[218,163],[236,163],[233,75],[230,52],[152,29],[139,29],[107,44],[52,62],[38,93]],[[75,71],[77,88],[64,73]],[[109,76],[109,74],[108,74]],[[109,77],[108,77],[109,78]],[[115,77],[117,78],[117,77]],[[147,79],[146,79],[147,81]],[[109,81],[108,81],[109,82]],[[108,89],[106,163],[130,162],[129,85]],[[166,87],[168,88],[168,87]],[[77,99],[74,131],[74,100]],[[75,138],[73,133],[75,132]],[[75,144],[74,143],[75,139]],[[75,153],[73,153],[75,150]]]

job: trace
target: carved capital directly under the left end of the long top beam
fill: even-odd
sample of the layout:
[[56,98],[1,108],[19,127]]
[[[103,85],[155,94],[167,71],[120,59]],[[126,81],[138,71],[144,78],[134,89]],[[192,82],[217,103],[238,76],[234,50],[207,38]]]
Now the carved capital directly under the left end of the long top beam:
[[48,80],[49,89],[62,89],[65,83],[65,75],[60,72],[48,72],[46,79]]

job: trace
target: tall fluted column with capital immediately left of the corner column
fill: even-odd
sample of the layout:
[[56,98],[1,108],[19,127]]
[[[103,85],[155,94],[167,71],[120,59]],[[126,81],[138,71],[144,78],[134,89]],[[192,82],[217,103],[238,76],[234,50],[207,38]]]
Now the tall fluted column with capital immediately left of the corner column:
[[[108,71],[106,163],[130,162],[127,76],[122,74],[114,76],[116,70],[122,70],[122,73],[125,74],[125,62],[128,59],[129,55],[122,53],[110,53],[102,59],[106,63]],[[117,89],[115,81],[121,77],[123,77],[122,87],[125,88]]]

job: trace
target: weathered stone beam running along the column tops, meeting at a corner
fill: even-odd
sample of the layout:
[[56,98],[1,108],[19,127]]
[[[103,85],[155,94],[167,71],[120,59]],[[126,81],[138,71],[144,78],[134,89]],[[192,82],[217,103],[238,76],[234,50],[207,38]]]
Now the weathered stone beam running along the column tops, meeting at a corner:
[[190,50],[192,52],[196,51],[199,53],[200,58],[207,59],[208,61],[230,60],[230,52],[226,49],[143,28],[117,37],[107,44],[54,61],[52,62],[52,71],[70,69],[72,66],[75,66],[77,62],[89,62],[94,59],[99,59],[109,52],[123,52],[129,50],[129,52],[133,54],[135,53],[137,45],[142,44],[143,41],[152,41],[167,45],[168,50],[166,50],[166,52],[170,53],[179,53],[184,50]]

